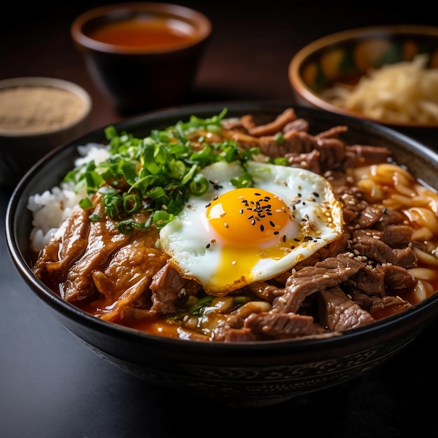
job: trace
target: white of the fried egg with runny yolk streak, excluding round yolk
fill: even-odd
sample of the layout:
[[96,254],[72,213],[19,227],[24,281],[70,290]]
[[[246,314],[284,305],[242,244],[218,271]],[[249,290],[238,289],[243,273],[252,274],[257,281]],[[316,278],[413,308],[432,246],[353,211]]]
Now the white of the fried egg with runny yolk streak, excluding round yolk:
[[224,241],[209,226],[207,205],[236,190],[230,180],[245,171],[239,163],[218,162],[202,169],[211,181],[209,191],[190,197],[185,209],[160,230],[162,250],[169,255],[169,263],[211,295],[227,295],[253,281],[281,274],[342,232],[341,203],[323,176],[295,167],[252,161],[246,165],[255,187],[281,197],[288,205],[293,218],[283,240],[278,236],[267,245],[248,242],[242,246]]

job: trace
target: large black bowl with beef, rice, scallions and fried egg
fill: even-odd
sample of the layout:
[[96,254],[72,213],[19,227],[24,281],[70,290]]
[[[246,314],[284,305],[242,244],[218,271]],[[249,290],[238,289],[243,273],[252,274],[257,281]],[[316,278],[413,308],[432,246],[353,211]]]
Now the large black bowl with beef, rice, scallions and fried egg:
[[353,379],[438,311],[438,156],[276,103],[169,108],[91,132],[10,198],[15,267],[126,372],[233,406]]

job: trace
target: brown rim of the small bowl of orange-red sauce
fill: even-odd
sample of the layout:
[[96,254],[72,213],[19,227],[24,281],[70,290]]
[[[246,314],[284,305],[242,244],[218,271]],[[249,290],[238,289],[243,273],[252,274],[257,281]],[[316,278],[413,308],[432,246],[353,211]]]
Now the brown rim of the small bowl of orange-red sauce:
[[[160,13],[169,15],[176,20],[181,20],[190,24],[195,29],[194,37],[188,41],[183,41],[169,48],[141,48],[112,45],[108,43],[101,43],[100,41],[90,38],[83,32],[85,24],[92,20],[97,20],[106,15],[118,15],[120,13]],[[174,3],[159,3],[155,1],[140,1],[128,3],[114,3],[105,6],[92,8],[81,13],[73,20],[70,27],[70,34],[73,41],[81,50],[92,50],[95,52],[113,53],[119,55],[154,55],[160,53],[177,52],[184,50],[206,41],[211,35],[212,24],[209,17],[204,13],[190,8],[188,6],[181,6]]]

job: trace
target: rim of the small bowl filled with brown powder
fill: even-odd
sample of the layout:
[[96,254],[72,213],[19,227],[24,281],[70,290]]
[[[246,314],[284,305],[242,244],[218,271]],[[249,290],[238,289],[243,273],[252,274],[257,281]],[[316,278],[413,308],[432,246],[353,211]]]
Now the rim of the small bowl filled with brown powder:
[[57,88],[60,90],[67,90],[76,94],[77,97],[83,102],[83,111],[80,113],[76,120],[69,123],[69,125],[64,125],[62,127],[47,129],[45,131],[38,132],[8,132],[1,131],[0,136],[6,138],[44,138],[50,136],[51,134],[57,134],[61,132],[66,132],[71,129],[75,129],[78,125],[81,125],[84,120],[90,117],[92,112],[92,98],[90,94],[80,85],[70,82],[69,80],[59,79],[59,78],[49,78],[45,76],[22,76],[20,78],[8,78],[0,80],[0,91],[6,88],[12,87],[50,87]]

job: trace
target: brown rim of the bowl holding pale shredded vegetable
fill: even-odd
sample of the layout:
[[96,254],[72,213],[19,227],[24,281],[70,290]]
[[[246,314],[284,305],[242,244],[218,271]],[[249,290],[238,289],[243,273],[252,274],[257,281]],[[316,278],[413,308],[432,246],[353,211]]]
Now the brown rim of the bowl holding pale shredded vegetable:
[[325,99],[320,97],[320,94],[311,90],[311,88],[306,85],[300,70],[304,65],[304,62],[308,57],[313,55],[324,48],[329,48],[330,45],[335,45],[344,41],[353,41],[360,38],[368,38],[374,36],[390,36],[390,35],[425,35],[425,36],[435,36],[438,38],[438,27],[430,25],[421,24],[390,24],[390,25],[376,25],[367,27],[358,27],[353,29],[346,29],[344,31],[339,31],[334,34],[329,34],[318,38],[315,41],[305,45],[303,48],[298,50],[289,62],[288,66],[288,77],[290,85],[292,85],[293,91],[299,95],[302,99],[305,99],[309,104],[315,108],[321,108],[324,111],[330,111],[333,113],[339,113],[342,115],[348,115],[355,118],[360,118],[362,120],[369,120],[371,122],[383,123],[388,127],[393,127],[395,129],[399,127],[407,128],[421,128],[421,129],[437,129],[438,124],[428,124],[428,123],[415,123],[415,122],[383,122],[382,120],[376,118],[370,118],[353,111],[348,111],[339,106],[330,104]]

